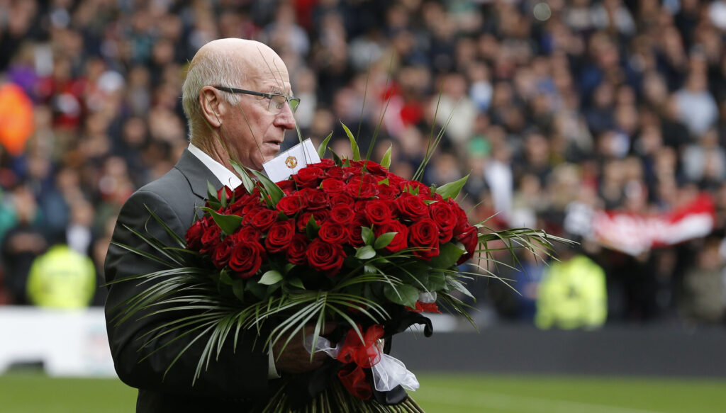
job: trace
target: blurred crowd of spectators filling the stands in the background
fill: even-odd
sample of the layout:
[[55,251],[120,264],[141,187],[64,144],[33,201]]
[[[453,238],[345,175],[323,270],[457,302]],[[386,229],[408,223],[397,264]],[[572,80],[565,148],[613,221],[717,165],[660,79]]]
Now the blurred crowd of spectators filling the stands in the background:
[[[423,180],[470,174],[462,203],[494,229],[568,235],[573,202],[648,215],[710,194],[708,237],[575,253],[604,274],[608,322],[725,321],[726,1],[698,0],[0,0],[0,88],[33,113],[27,140],[0,124],[0,302],[34,300],[54,245],[102,283],[118,209],[187,147],[187,62],[221,37],[272,46],[301,133],[340,155],[345,123],[410,177],[440,137]],[[531,322],[547,268],[492,269],[519,293],[482,279],[477,305]]]

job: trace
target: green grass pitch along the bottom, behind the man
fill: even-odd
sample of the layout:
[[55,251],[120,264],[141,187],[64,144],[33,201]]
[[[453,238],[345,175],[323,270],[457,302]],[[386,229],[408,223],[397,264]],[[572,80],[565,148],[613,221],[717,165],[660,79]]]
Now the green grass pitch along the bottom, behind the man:
[[[726,380],[419,374],[427,413],[723,413]],[[134,412],[118,380],[0,375],[1,413]]]

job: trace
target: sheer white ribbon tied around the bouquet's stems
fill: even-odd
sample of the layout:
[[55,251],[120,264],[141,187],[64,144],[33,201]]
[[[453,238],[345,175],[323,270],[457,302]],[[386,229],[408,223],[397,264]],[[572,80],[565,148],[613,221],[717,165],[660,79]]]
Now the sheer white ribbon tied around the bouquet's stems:
[[[313,352],[313,340],[314,337],[311,335],[305,338],[304,345],[309,353]],[[317,343],[315,343],[315,352],[322,351],[335,359],[338,357],[338,353],[340,353],[341,346],[342,344],[338,343],[338,345],[333,347],[330,340],[324,337],[318,337]],[[380,355],[380,359],[378,363],[373,364],[371,367],[375,390],[390,391],[396,388],[397,385],[401,385],[406,390],[416,391],[420,387],[416,375],[409,372],[401,360],[382,353],[378,346],[376,346],[376,351]]]

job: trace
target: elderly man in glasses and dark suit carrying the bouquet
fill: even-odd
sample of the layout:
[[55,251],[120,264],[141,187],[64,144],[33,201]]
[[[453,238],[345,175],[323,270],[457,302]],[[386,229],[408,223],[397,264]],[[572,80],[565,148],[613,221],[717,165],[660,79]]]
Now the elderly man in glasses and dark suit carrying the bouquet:
[[[171,171],[131,195],[118,216],[113,241],[149,251],[126,229],[129,226],[172,244],[171,237],[148,219],[146,207],[183,237],[195,219],[195,207],[204,205],[208,181],[215,187],[240,184],[230,158],[261,169],[262,163],[277,154],[285,131],[295,127],[292,110],[299,100],[290,95],[287,68],[268,46],[239,38],[205,44],[189,65],[184,81],[189,148]],[[153,261],[113,245],[105,263],[109,282],[158,269]],[[144,333],[170,317],[179,317],[178,311],[135,317],[118,325],[111,321],[113,308],[136,293],[135,282],[114,284],[106,304],[116,372],[124,383],[139,389],[136,412],[245,412],[269,395],[279,372],[306,372],[322,363],[322,355],[310,361],[302,340],[293,340],[280,353],[280,348],[253,346],[253,332],[248,332],[238,340],[237,351],[232,351],[230,338],[224,353],[192,386],[204,340],[191,343],[193,335],[174,340],[179,334],[172,332],[140,348]],[[167,367],[187,345],[165,377]]]

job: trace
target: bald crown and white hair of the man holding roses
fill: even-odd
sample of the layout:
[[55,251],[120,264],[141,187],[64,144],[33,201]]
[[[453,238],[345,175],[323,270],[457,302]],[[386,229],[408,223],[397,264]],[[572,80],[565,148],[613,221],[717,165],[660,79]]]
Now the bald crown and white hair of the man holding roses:
[[[199,103],[204,86],[257,90],[258,84],[269,78],[280,79],[280,84],[283,84],[288,75],[285,63],[266,44],[243,38],[220,38],[202,46],[189,63],[182,86],[181,102],[190,134],[205,134],[208,129]],[[234,94],[222,95],[232,105],[237,105],[240,99]]]

